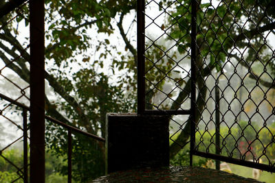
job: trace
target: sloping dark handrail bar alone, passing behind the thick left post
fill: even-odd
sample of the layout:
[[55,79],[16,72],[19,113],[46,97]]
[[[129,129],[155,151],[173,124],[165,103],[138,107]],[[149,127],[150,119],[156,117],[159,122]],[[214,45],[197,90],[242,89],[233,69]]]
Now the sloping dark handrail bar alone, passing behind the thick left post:
[[[14,99],[11,99],[10,97],[7,97],[7,96],[5,96],[5,95],[3,95],[3,94],[1,94],[1,93],[0,93],[0,98],[5,99],[6,101],[9,101],[10,103],[13,103],[14,105],[19,106],[19,107],[21,107],[21,108],[23,108],[23,109],[30,110],[30,108],[29,108],[28,106],[25,106],[23,103],[20,103],[20,102],[18,102],[18,101],[15,101]],[[73,127],[73,126],[71,126],[71,125],[67,125],[66,123],[63,123],[63,122],[61,122],[61,121],[58,121],[57,119],[54,119],[54,118],[49,117],[49,116],[47,116],[47,115],[45,116],[45,119],[48,119],[48,120],[50,120],[50,121],[52,121],[52,122],[54,122],[54,123],[56,123],[56,124],[58,124],[58,125],[61,125],[61,126],[67,128],[67,129],[70,129],[70,130],[72,130],[72,131],[74,131],[74,132],[78,132],[78,133],[80,133],[80,134],[84,134],[85,136],[89,136],[89,137],[91,137],[91,138],[94,138],[94,139],[96,139],[96,140],[98,140],[98,141],[105,142],[105,139],[104,139],[104,138],[101,138],[101,137],[96,136],[96,135],[94,135],[94,134],[90,134],[90,133],[88,133],[88,132],[83,132],[82,130],[79,130],[77,127]]]

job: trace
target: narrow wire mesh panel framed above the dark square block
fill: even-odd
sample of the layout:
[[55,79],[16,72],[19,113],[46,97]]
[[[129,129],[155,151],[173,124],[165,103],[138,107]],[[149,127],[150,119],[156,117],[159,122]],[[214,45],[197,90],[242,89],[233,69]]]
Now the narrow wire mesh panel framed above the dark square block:
[[[190,109],[190,23],[182,22],[185,14],[173,12],[179,5],[179,1],[145,5],[146,110]],[[182,7],[189,12],[188,6]],[[175,25],[184,29],[180,38],[173,34]],[[180,99],[181,95],[187,97]]]

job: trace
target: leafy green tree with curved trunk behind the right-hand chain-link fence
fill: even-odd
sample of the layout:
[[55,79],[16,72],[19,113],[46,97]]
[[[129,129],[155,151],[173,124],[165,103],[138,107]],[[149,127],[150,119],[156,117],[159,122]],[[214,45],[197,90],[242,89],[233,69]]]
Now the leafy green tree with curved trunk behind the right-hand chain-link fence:
[[[165,27],[168,39],[177,40],[179,53],[190,54],[190,20],[191,1],[178,1],[175,10],[170,11],[170,18]],[[165,1],[173,5],[174,1]],[[214,5],[214,3],[217,3]],[[165,5],[164,5],[165,7]],[[161,8],[162,9],[162,8]],[[211,77],[211,71],[221,71],[229,60],[237,60],[248,71],[248,76],[267,88],[273,88],[272,75],[263,79],[262,73],[254,71],[255,62],[267,69],[274,68],[272,49],[267,46],[266,36],[274,29],[274,5],[272,1],[221,1],[201,3],[197,6],[197,90],[196,119],[197,124],[206,106],[208,88],[206,80]],[[244,23],[243,23],[244,22]],[[246,57],[242,49],[247,49]],[[246,57],[246,58],[244,58]],[[235,72],[235,71],[234,71]],[[206,79],[205,79],[206,78]],[[170,105],[171,110],[181,108],[182,101],[190,96],[190,79],[181,85],[181,92]],[[177,143],[185,144],[190,136],[190,121],[177,137]],[[177,143],[170,145],[170,158],[181,149]]]

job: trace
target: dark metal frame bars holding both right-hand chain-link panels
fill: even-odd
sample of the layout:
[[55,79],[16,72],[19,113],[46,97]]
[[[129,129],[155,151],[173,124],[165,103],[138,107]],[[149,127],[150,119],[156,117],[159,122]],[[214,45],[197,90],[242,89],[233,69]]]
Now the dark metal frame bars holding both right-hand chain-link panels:
[[[230,162],[233,164],[239,164],[245,167],[252,167],[255,169],[261,169],[265,171],[275,172],[275,167],[273,165],[261,164],[259,162],[250,162],[248,160],[240,160],[236,158],[230,158],[227,156],[221,156],[220,150],[220,139],[219,136],[216,136],[216,142],[218,145],[216,146],[216,154],[210,154],[201,152],[195,149],[195,116],[196,116],[196,73],[197,66],[195,65],[197,59],[197,10],[199,8],[199,3],[197,0],[191,0],[191,107],[190,110],[146,110],[145,108],[145,1],[138,0],[137,1],[137,114],[159,114],[159,115],[177,115],[177,114],[188,114],[190,115],[191,125],[190,125],[190,166],[192,166],[192,156],[201,156],[204,158],[211,158],[216,160],[216,169],[219,169],[220,161]],[[220,130],[220,114],[219,114],[219,90],[218,85],[219,81],[216,81],[215,84],[215,93],[217,94],[215,101],[216,113],[216,133],[219,134]]]

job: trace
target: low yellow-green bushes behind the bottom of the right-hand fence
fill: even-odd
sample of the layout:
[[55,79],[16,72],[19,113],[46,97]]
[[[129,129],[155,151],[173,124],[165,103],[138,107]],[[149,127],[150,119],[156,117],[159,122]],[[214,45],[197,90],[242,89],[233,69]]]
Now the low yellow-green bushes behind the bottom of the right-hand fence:
[[[275,146],[274,144],[270,144],[272,138],[274,138],[272,134],[275,134],[274,125],[261,129],[256,122],[248,125],[248,121],[240,121],[239,125],[234,125],[230,129],[226,126],[221,126],[220,133],[221,155],[223,156],[244,158],[245,160],[253,160],[253,158],[258,160],[258,158],[261,158],[265,164],[267,164],[269,160],[272,162],[275,158]],[[208,132],[200,130],[197,132],[196,145],[201,144],[199,151],[208,151],[211,154],[215,154],[214,142],[211,140],[214,138],[214,130],[208,130]],[[261,143],[259,141],[261,141]],[[265,154],[265,156],[262,154]],[[269,159],[267,159],[267,157]],[[189,158],[189,147],[186,145],[170,160],[170,163],[177,166],[188,166]],[[197,158],[197,160],[194,160],[194,164],[199,167],[207,167],[207,161],[205,158]]]

